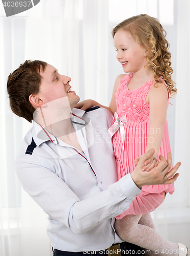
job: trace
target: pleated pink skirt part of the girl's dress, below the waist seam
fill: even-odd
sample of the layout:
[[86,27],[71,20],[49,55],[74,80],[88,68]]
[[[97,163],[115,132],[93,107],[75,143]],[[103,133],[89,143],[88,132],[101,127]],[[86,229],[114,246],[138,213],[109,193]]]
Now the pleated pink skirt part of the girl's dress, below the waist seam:
[[[122,178],[128,173],[131,173],[135,167],[134,159],[145,153],[149,131],[148,122],[124,122],[123,124],[125,128],[124,150],[122,150],[120,130],[118,130],[112,137],[116,156],[118,179]],[[158,156],[162,155],[167,158],[167,154],[169,152],[171,152],[171,148],[168,136],[168,123],[166,121],[165,132]],[[155,210],[164,201],[164,191],[166,191],[166,193],[173,194],[174,184],[143,186],[141,193],[133,200],[129,209],[124,211],[123,214],[117,216],[116,218],[121,219],[125,215],[148,214],[149,212]]]

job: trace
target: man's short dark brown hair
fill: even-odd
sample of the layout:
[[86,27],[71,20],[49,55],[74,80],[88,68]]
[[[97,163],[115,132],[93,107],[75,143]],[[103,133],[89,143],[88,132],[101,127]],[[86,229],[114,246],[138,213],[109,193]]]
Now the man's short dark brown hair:
[[35,108],[29,101],[31,94],[37,94],[40,89],[42,76],[47,63],[41,60],[26,60],[11,73],[7,80],[7,93],[13,113],[29,122],[33,120]]

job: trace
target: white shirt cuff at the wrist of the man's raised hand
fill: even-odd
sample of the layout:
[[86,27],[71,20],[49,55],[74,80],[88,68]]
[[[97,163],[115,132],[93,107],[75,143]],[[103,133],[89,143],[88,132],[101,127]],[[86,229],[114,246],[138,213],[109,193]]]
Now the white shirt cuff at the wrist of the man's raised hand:
[[134,183],[130,174],[119,179],[121,190],[131,201],[141,193],[141,189]]

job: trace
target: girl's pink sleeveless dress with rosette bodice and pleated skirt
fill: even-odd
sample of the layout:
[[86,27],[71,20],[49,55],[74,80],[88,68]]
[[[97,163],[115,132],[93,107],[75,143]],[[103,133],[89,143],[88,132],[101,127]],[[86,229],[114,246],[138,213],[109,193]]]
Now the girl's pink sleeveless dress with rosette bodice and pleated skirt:
[[[133,171],[134,159],[145,153],[149,133],[149,104],[146,102],[146,96],[152,87],[152,80],[138,89],[129,91],[128,83],[132,76],[133,73],[127,74],[120,81],[116,92],[117,113],[109,129],[113,133],[111,135],[113,135],[112,143],[118,179]],[[167,154],[171,152],[167,120],[164,128],[158,156],[167,157]],[[159,133],[159,130],[150,131],[150,134],[151,132]],[[173,194],[174,184],[143,186],[141,193],[132,201],[129,209],[116,218],[121,219],[125,215],[148,214],[164,201],[164,191]]]

